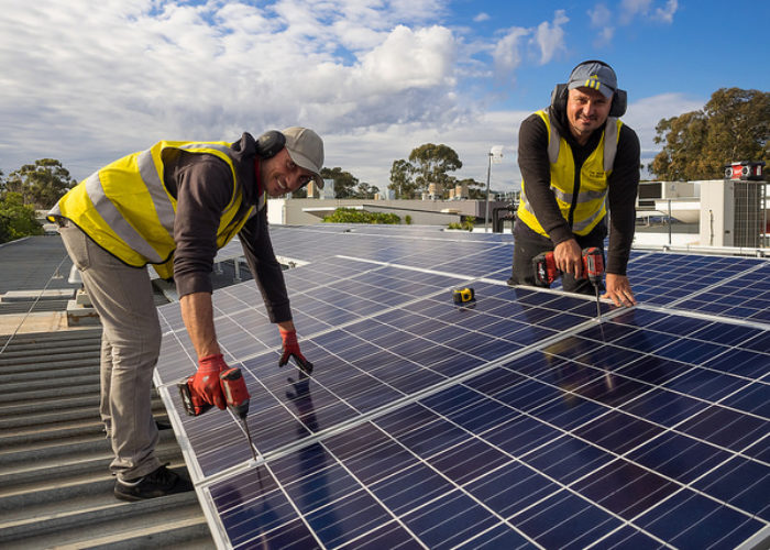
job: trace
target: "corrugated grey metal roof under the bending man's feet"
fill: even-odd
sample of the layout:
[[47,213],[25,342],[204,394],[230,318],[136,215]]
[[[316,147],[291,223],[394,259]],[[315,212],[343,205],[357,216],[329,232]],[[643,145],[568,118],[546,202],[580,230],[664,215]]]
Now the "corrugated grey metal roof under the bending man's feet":
[[[194,492],[139,503],[112,494],[98,411],[101,329],[67,328],[66,299],[41,293],[77,286],[61,238],[4,244],[0,265],[0,295],[28,290],[0,302],[0,547],[213,548]],[[165,420],[157,397],[153,406]],[[157,453],[186,470],[172,430],[161,431]]]

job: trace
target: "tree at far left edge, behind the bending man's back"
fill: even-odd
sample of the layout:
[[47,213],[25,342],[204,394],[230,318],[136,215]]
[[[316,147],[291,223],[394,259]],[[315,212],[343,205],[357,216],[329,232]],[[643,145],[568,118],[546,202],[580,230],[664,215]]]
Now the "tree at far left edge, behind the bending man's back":
[[13,170],[6,179],[6,191],[18,193],[25,205],[51,208],[74,184],[69,172],[55,158],[40,158]]

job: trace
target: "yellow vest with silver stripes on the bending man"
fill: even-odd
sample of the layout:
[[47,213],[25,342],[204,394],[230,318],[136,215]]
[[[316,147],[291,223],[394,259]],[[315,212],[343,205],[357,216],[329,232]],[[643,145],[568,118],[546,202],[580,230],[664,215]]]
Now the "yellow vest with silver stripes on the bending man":
[[[162,141],[146,151],[108,164],[72,188],[48,212],[48,219],[66,218],[102,249],[133,267],[152,264],[157,274],[174,274],[174,217],[176,199],[163,183],[163,158],[167,150],[215,155],[232,173],[233,193],[222,211],[217,246],[224,246],[254,215],[243,205],[243,182],[227,142]],[[249,183],[251,184],[251,183]],[[258,209],[264,208],[264,194]]]

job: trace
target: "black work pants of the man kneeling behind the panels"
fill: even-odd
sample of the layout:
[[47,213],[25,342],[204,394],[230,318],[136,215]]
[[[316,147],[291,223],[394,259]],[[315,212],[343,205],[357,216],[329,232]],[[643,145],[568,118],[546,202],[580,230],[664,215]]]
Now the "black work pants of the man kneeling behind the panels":
[[[587,235],[574,235],[574,238],[581,249],[598,248],[602,251],[606,265],[606,258],[604,258],[604,238],[606,234],[607,229],[604,223],[598,223]],[[525,223],[516,220],[514,224],[514,265],[508,284],[539,286],[535,278],[532,260],[538,254],[552,250],[553,242],[550,239],[536,233]],[[568,274],[562,275],[561,285],[568,293],[587,294],[590,296],[594,296],[596,293],[587,278],[576,279]],[[603,286],[600,290],[604,290]]]

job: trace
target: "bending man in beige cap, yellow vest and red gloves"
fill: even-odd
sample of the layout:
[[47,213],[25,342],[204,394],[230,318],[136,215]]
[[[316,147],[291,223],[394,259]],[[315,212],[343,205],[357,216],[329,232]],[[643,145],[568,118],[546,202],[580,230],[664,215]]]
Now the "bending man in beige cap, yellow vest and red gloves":
[[323,143],[312,130],[288,128],[254,140],[160,142],[116,161],[65,195],[48,212],[102,323],[100,414],[114,460],[114,495],[140,501],[189,491],[188,480],[155,457],[152,374],[161,327],[147,264],[173,275],[182,316],[198,358],[193,389],[226,408],[219,373],[210,273],[217,250],[239,234],[268,317],[283,339],[279,365],[299,351],[280,265],[267,232],[265,197],[315,180]]

